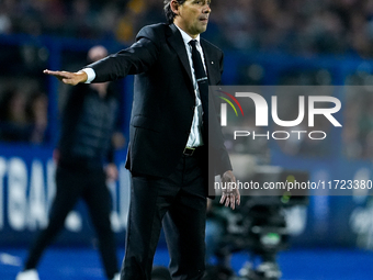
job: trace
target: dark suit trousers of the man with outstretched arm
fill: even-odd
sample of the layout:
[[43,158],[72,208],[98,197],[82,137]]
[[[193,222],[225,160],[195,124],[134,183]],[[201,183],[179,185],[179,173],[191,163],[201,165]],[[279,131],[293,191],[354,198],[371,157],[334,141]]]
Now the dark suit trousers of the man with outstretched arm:
[[173,280],[197,280],[205,269],[207,152],[180,157],[167,178],[132,173],[122,280],[150,280],[163,225]]

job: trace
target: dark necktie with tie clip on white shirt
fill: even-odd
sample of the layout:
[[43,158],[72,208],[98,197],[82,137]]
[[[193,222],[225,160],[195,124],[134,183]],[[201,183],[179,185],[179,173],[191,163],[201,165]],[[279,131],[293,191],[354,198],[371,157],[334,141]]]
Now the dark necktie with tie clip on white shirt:
[[195,80],[199,85],[200,99],[202,102],[202,121],[203,121],[203,138],[207,144],[207,128],[208,128],[208,80],[205,68],[203,67],[200,52],[196,49],[196,40],[192,40],[189,44],[192,46],[192,60]]

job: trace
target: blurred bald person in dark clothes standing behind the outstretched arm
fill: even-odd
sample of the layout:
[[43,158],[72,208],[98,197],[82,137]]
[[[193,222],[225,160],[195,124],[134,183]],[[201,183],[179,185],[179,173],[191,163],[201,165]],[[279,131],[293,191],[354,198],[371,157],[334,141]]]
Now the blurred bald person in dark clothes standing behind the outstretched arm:
[[[94,46],[88,58],[95,61],[106,55],[103,46]],[[111,195],[106,187],[106,179],[117,179],[112,146],[120,109],[116,93],[109,82],[72,88],[63,112],[59,143],[54,152],[57,191],[49,223],[33,243],[24,270],[16,280],[38,280],[36,267],[44,250],[63,229],[66,216],[80,198],[88,205],[98,234],[105,276],[118,279],[115,236],[110,221]],[[37,107],[37,103],[34,105]]]

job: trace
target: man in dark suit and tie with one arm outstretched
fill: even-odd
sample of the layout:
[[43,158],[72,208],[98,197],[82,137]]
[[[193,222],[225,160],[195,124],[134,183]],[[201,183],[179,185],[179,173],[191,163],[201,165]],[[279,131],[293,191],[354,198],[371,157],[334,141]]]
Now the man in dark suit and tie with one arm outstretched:
[[[131,206],[122,280],[148,280],[161,223],[172,279],[201,279],[208,177],[235,181],[208,85],[219,85],[223,52],[200,38],[210,0],[165,0],[168,24],[145,26],[127,49],[78,72],[50,71],[68,85],[135,76],[126,167]],[[208,82],[208,83],[207,83]],[[210,137],[207,127],[210,126]],[[208,144],[208,145],[207,145]],[[207,154],[214,157],[208,165]],[[223,192],[235,208],[239,192]]]

